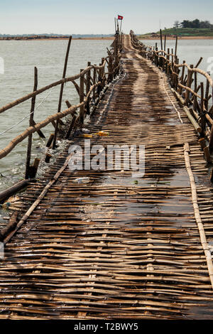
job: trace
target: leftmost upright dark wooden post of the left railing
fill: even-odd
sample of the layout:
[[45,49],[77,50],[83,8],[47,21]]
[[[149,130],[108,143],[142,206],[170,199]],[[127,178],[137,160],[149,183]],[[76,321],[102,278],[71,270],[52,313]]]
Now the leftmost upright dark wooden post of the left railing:
[[[33,91],[37,90],[38,87],[38,70],[37,68],[34,68],[34,87]],[[31,99],[31,115],[29,124],[30,126],[33,126],[33,116],[34,116],[34,110],[35,110],[35,96]],[[28,149],[27,149],[27,157],[26,157],[26,171],[25,171],[25,178],[28,179],[29,173],[30,173],[30,165],[31,165],[31,151],[32,151],[32,139],[33,134],[28,135]]]

